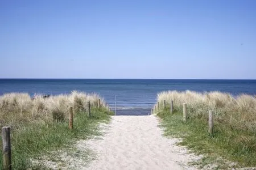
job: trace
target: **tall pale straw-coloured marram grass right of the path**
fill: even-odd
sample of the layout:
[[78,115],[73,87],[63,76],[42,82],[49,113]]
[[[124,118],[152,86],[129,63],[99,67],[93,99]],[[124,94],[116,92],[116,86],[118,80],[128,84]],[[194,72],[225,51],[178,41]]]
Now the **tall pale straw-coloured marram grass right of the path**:
[[217,121],[225,122],[232,128],[256,131],[256,98],[250,95],[233,97],[218,91],[199,93],[194,91],[160,92],[158,102],[174,101],[174,107],[182,111],[183,103],[187,103],[190,117],[207,117],[210,110],[214,111]]

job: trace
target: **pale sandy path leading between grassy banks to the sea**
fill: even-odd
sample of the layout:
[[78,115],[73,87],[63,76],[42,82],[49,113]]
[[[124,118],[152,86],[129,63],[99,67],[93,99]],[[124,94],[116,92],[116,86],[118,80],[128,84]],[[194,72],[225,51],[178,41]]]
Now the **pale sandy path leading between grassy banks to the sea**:
[[158,125],[155,116],[113,116],[102,139],[80,143],[98,154],[81,169],[196,169],[187,163],[198,156],[163,137]]

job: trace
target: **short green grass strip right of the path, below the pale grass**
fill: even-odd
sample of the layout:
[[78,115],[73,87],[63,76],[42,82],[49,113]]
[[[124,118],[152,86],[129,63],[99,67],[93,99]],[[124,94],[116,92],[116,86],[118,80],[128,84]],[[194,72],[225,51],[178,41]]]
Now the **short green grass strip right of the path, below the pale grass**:
[[213,136],[208,134],[208,120],[203,116],[190,117],[183,122],[180,112],[171,114],[168,109],[159,111],[158,116],[162,118],[161,126],[164,135],[182,138],[180,145],[187,146],[197,154],[206,154],[200,164],[217,164],[217,169],[230,168],[224,158],[237,163],[236,167],[256,167],[256,134],[250,130],[239,130],[225,124],[225,122],[214,122]]

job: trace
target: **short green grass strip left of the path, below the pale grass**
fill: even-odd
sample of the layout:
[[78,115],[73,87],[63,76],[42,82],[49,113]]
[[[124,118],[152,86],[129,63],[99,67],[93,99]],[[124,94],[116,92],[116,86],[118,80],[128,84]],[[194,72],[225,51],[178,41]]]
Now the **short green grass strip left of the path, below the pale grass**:
[[[51,155],[60,148],[71,147],[79,139],[88,139],[93,135],[101,135],[99,122],[109,122],[112,112],[106,109],[92,109],[92,116],[84,112],[76,113],[73,129],[68,129],[68,121],[33,122],[19,124],[11,130],[11,154],[13,169],[43,169],[43,165],[32,165],[31,159],[40,159]],[[0,144],[1,142],[0,137]],[[0,169],[2,167],[2,148],[0,150]]]

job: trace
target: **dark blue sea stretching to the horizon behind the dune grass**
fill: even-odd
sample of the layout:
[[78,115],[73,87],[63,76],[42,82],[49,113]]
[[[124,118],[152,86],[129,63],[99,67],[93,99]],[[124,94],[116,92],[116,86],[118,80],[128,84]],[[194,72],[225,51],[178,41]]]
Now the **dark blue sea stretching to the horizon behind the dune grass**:
[[117,115],[146,115],[161,91],[221,91],[256,95],[256,80],[210,79],[0,79],[0,95],[10,92],[59,95],[96,93]]

